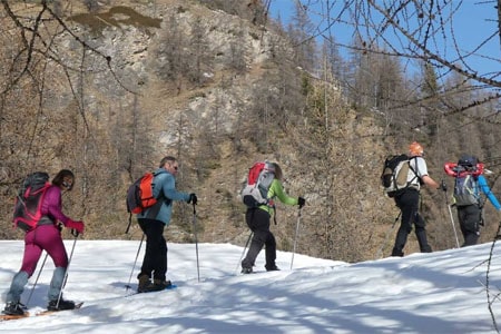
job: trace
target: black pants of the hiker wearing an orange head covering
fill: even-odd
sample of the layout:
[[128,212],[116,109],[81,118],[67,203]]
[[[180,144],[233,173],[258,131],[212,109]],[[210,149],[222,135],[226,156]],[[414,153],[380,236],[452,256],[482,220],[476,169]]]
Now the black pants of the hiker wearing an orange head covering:
[[412,224],[415,226],[415,236],[420,244],[422,253],[431,253],[432,248],[428,244],[425,223],[419,214],[420,191],[416,189],[405,189],[401,195],[395,197],[395,204],[402,212],[402,219],[399,232],[396,233],[395,246],[392,256],[403,256],[403,248],[407,242],[407,236],[412,230]]

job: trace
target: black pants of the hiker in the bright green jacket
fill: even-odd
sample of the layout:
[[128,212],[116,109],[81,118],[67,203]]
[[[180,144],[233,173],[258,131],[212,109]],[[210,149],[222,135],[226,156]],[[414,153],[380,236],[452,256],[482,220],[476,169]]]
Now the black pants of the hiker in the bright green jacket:
[[276,242],[275,236],[269,232],[269,214],[265,210],[253,208],[245,213],[245,222],[254,233],[248,248],[247,256],[242,261],[242,267],[250,268],[256,262],[263,246],[266,246],[266,269],[276,267]]

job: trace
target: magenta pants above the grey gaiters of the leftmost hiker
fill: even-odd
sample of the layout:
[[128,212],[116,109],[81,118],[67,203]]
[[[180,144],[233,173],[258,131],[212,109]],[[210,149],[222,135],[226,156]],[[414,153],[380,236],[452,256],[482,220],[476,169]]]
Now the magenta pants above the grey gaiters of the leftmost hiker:
[[21,272],[27,272],[28,276],[31,277],[42,250],[46,250],[52,258],[55,267],[66,268],[68,266],[68,254],[62,243],[61,233],[55,225],[42,225],[24,236]]

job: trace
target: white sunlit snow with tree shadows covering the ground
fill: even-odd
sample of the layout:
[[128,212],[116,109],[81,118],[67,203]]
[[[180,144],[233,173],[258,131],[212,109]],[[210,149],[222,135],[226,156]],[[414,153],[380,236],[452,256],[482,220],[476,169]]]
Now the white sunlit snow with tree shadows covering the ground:
[[[278,252],[279,272],[240,275],[243,247],[168,243],[168,278],[178,287],[131,295],[126,289],[137,240],[66,240],[75,246],[65,297],[82,308],[1,322],[6,333],[495,333],[485,292],[492,244],[348,264]],[[131,279],[136,287],[137,269]],[[489,283],[495,317],[501,301],[501,249],[494,247]],[[2,301],[19,269],[22,240],[0,242]],[[43,261],[45,254],[39,263]],[[291,269],[291,262],[293,268]],[[31,314],[47,304],[48,258],[22,296]]]

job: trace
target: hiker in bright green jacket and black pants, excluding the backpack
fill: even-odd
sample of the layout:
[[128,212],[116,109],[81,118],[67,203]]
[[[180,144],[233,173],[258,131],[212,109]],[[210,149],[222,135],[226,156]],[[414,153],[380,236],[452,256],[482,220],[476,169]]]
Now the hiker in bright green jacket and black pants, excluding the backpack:
[[272,165],[275,169],[275,178],[273,179],[268,189],[268,204],[247,208],[247,212],[245,213],[245,222],[247,223],[248,228],[250,228],[250,230],[254,233],[254,236],[250,242],[250,247],[247,252],[247,256],[242,261],[243,274],[250,274],[253,272],[254,263],[263,246],[266,246],[266,271],[279,271],[279,268],[275,264],[275,236],[269,230],[269,218],[275,210],[275,198],[278,198],[283,204],[286,205],[298,205],[299,208],[302,208],[306,203],[303,197],[289,197],[287,194],[285,194],[282,186],[282,168],[276,163],[273,163]]

